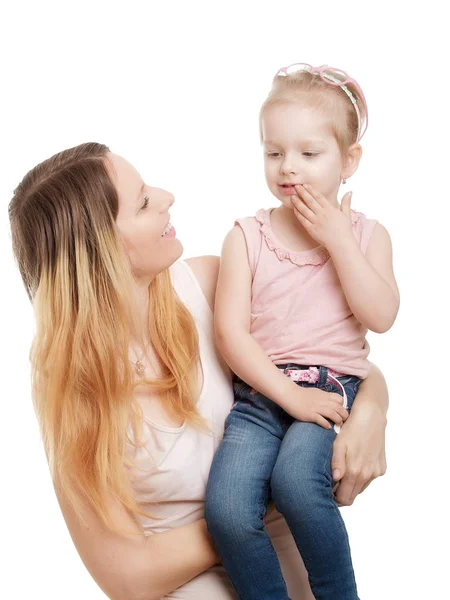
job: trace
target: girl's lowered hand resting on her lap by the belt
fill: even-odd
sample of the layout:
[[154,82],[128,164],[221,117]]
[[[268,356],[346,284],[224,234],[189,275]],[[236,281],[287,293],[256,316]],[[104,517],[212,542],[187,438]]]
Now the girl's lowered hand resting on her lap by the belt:
[[317,423],[324,429],[332,427],[327,419],[342,425],[348,418],[348,411],[342,406],[342,396],[318,388],[296,386],[283,409],[297,421]]

